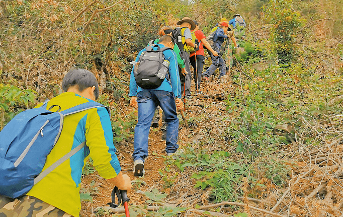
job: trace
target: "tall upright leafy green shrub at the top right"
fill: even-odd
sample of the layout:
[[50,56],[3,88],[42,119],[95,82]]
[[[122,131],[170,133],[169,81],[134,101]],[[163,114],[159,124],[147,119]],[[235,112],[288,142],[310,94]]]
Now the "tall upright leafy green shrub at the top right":
[[297,30],[305,20],[292,9],[292,0],[269,0],[268,6],[263,9],[267,21],[273,25],[270,48],[274,50],[280,64],[290,64],[297,56]]

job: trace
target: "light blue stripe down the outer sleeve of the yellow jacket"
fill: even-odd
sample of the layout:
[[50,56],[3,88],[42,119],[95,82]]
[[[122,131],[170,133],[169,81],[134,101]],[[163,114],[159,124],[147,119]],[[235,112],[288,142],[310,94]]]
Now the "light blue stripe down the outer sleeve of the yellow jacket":
[[107,110],[103,107],[97,108],[98,115],[100,118],[100,122],[102,128],[104,130],[104,137],[106,141],[106,145],[108,146],[108,152],[111,154],[111,166],[114,168],[116,173],[118,174],[121,171],[119,160],[116,155],[116,147],[113,144],[113,133],[112,133],[112,126],[110,116]]

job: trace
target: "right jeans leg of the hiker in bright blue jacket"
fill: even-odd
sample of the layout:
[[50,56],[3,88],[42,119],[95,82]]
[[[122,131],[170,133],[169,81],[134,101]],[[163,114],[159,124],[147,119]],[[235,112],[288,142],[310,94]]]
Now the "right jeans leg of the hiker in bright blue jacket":
[[[157,91],[156,91],[157,92]],[[157,94],[156,94],[157,96]],[[178,150],[179,145],[179,118],[176,112],[175,99],[172,92],[158,91],[160,107],[164,111],[166,123],[166,141],[165,151],[174,153]]]

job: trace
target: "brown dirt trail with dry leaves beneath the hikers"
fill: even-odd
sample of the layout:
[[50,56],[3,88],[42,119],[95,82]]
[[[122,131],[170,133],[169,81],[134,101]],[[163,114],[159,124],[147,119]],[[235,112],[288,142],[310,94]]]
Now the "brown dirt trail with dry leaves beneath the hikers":
[[[207,83],[204,84],[204,90],[207,88],[212,89],[218,89],[222,90],[223,84],[213,84],[213,83]],[[194,84],[192,86],[192,90],[194,93]],[[205,91],[204,91],[205,92]],[[216,91],[214,91],[216,92]],[[186,119],[188,121],[192,120],[195,117],[199,117],[203,112],[214,112],[218,110],[217,106],[209,106],[213,101],[209,101],[208,98],[216,98],[216,96],[219,96],[220,94],[213,94],[212,95],[204,95],[204,97],[201,97],[200,99],[197,98],[197,96],[193,96],[191,100],[187,103],[186,106]],[[128,105],[125,105],[126,112],[130,112],[131,108]],[[209,106],[207,108],[207,106]],[[203,109],[206,108],[204,111]],[[223,109],[223,108],[222,108]],[[160,110],[160,117],[162,117],[162,110]],[[179,120],[180,120],[180,129],[179,129],[179,146],[182,148],[183,146],[187,145],[190,141],[193,140],[195,136],[197,136],[197,132],[201,128],[201,126],[195,126],[192,124],[192,121],[190,123],[190,132],[187,133],[186,125],[182,120],[180,112],[178,112]],[[159,120],[159,126],[161,126],[162,120]],[[196,133],[192,133],[196,132]],[[133,141],[129,142],[125,145],[117,145],[118,150],[118,158],[120,161],[120,164],[122,166],[123,173],[130,176],[132,181],[136,181],[136,184],[133,183],[132,192],[129,195],[130,202],[129,204],[143,204],[145,200],[147,199],[145,196],[142,196],[140,194],[135,193],[135,190],[148,190],[152,188],[160,188],[162,186],[162,180],[161,175],[159,174],[159,169],[164,168],[164,161],[166,159],[166,152],[165,152],[165,141],[161,139],[162,132],[159,128],[152,128],[150,127],[150,133],[149,133],[149,153],[148,157],[145,159],[145,175],[144,177],[136,177],[133,176],[133,159],[132,159],[132,153],[133,153]],[[113,189],[112,184],[100,177],[97,172],[94,172],[92,174],[86,175],[82,178],[82,185],[81,188],[90,188],[91,182],[95,181],[95,186],[98,186],[98,192],[94,192],[93,196],[93,202],[89,201],[82,201],[82,210],[80,212],[80,216],[92,216],[92,209],[98,207],[98,206],[104,206],[108,202],[111,201],[111,191]],[[140,186],[138,186],[140,185]],[[139,188],[138,188],[139,187]]]

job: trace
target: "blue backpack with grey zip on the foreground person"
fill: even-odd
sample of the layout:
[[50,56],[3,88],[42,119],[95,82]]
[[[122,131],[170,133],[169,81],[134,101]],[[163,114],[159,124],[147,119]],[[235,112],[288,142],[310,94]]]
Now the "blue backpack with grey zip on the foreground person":
[[[42,171],[47,155],[61,134],[63,118],[91,108],[106,106],[87,102],[62,112],[40,108],[28,109],[16,115],[0,132],[0,195],[16,198],[27,193],[49,172],[82,149],[82,142],[51,166]],[[109,114],[110,110],[107,108]]]

